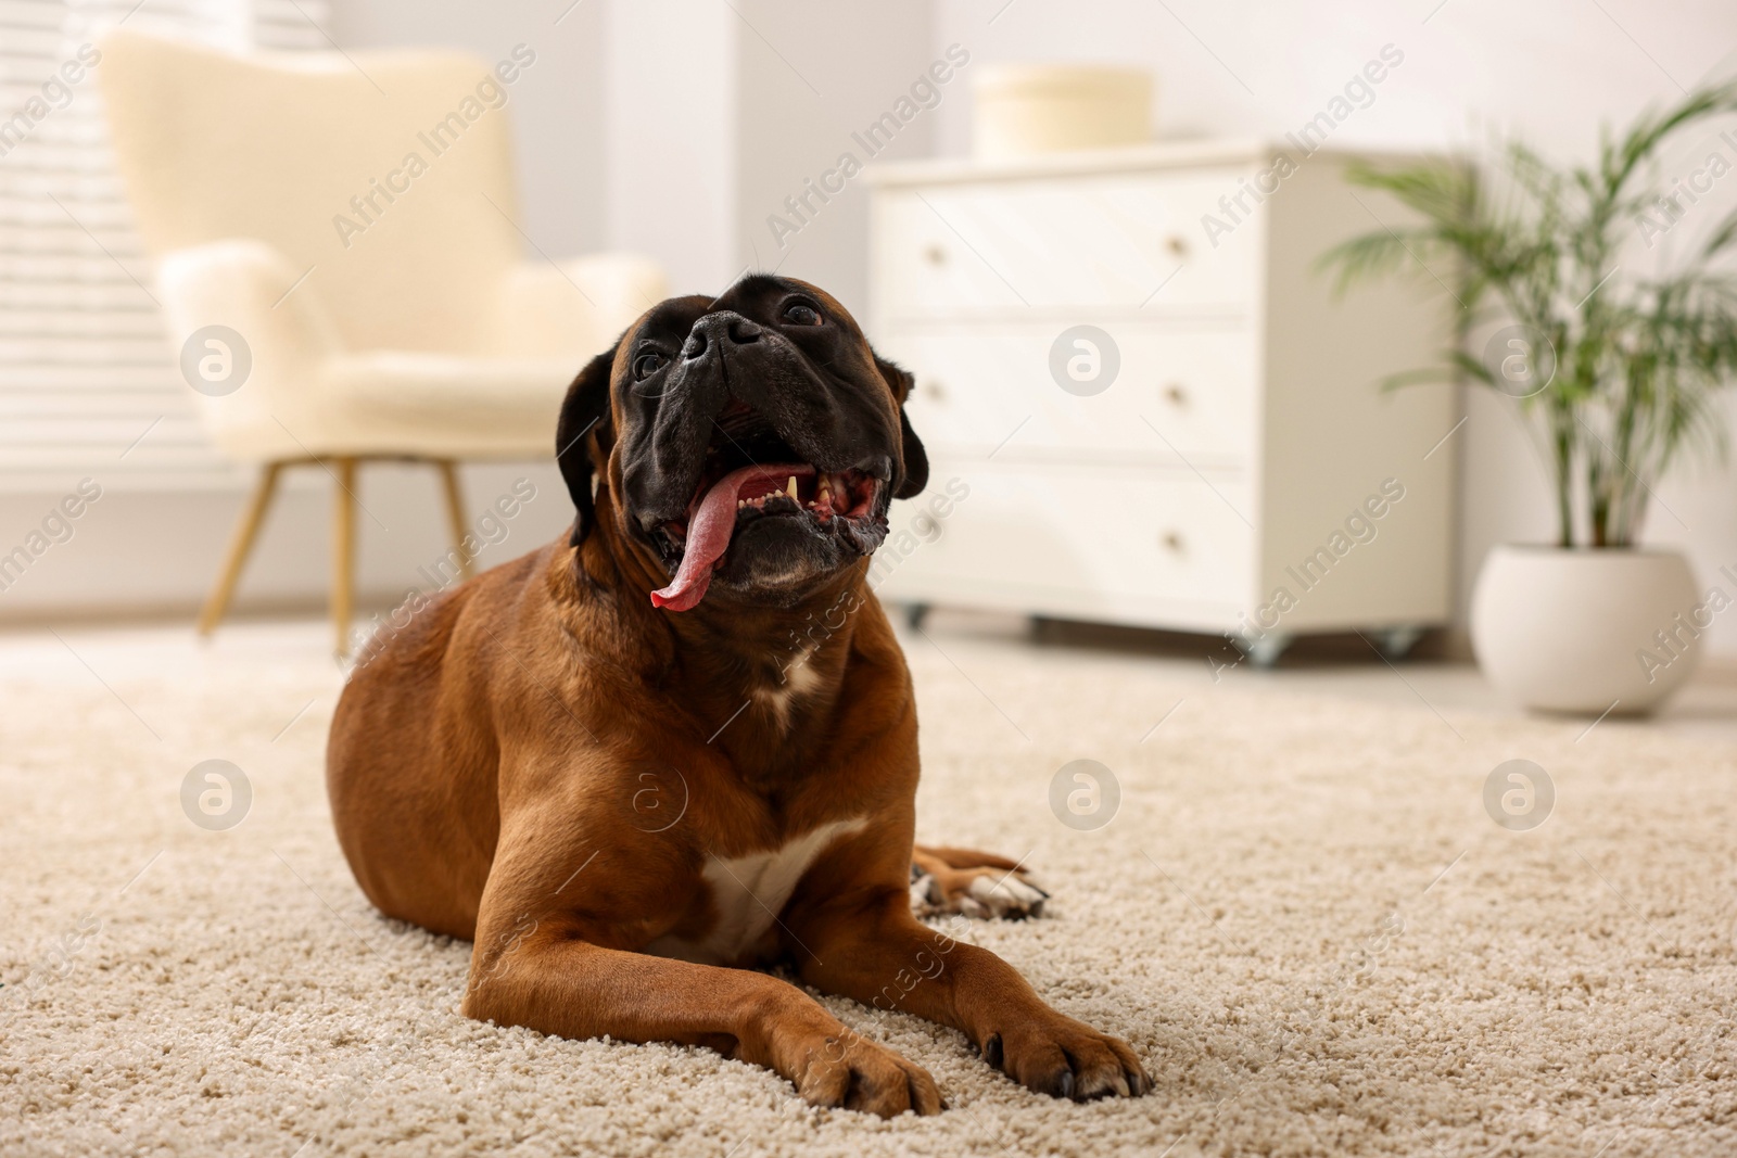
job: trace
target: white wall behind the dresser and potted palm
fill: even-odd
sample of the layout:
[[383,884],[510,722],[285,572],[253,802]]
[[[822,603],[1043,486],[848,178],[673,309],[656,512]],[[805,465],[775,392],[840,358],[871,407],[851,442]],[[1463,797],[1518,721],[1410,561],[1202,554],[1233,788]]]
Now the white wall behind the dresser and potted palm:
[[[999,12],[999,16],[997,16]],[[1730,0],[935,0],[931,45],[966,45],[973,66],[1077,59],[1139,64],[1157,76],[1160,135],[1259,135],[1298,128],[1386,43],[1405,54],[1334,144],[1388,149],[1476,148],[1522,134],[1548,155],[1591,156],[1600,123],[1626,125],[1737,64]],[[1714,134],[1671,158],[1701,158]],[[969,102],[943,104],[941,153],[969,151]],[[1732,149],[1727,148],[1727,156]],[[1668,165],[1668,174],[1676,168]],[[1737,177],[1718,200],[1737,205]],[[1721,208],[1706,207],[1702,226]],[[1699,212],[1699,208],[1697,208]],[[1638,234],[1636,234],[1638,236]],[[1640,262],[1645,250],[1624,260]],[[1662,248],[1659,250],[1662,252]],[[1737,399],[1728,399],[1737,403]],[[1461,453],[1461,606],[1483,554],[1553,533],[1548,476],[1511,405],[1466,398]],[[1737,405],[1732,431],[1737,443]],[[1737,470],[1685,464],[1657,488],[1647,538],[1690,550],[1704,582],[1737,564]],[[1674,516],[1671,514],[1674,512]],[[1734,566],[1737,569],[1737,566]],[[1730,583],[1725,583],[1732,592]],[[1737,594],[1737,592],[1732,592]],[[1713,648],[1737,653],[1737,618]]]

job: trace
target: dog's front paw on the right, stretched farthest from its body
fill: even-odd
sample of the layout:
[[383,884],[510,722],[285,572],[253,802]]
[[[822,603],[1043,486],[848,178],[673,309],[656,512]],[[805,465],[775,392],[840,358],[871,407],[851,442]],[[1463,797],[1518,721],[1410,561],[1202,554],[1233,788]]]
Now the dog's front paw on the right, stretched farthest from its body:
[[1054,1010],[990,1033],[983,1061],[1028,1090],[1077,1102],[1152,1090],[1133,1045]]

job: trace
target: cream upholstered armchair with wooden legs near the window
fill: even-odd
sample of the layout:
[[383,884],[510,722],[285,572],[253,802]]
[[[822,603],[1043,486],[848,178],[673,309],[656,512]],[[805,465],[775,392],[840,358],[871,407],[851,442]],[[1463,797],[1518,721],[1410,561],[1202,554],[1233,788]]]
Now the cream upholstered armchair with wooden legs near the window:
[[[509,106],[535,54],[234,56],[118,30],[116,165],[182,373],[217,448],[257,464],[200,630],[222,618],[288,465],[334,479],[347,649],[356,469],[549,458],[578,366],[665,295],[631,253],[525,260]],[[215,330],[214,330],[215,326]],[[462,554],[462,549],[460,549]],[[469,566],[469,561],[466,561]]]

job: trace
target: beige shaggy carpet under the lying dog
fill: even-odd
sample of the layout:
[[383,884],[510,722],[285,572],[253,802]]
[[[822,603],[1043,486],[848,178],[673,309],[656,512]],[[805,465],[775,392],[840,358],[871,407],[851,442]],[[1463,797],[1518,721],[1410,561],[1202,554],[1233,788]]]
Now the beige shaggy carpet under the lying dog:
[[[0,688],[0,1153],[1737,1153],[1728,747],[935,639],[910,644],[922,835],[1030,852],[1053,917],[976,939],[1127,1036],[1153,1095],[1037,1097],[844,1002],[948,1113],[466,1021],[469,944],[377,917],[334,844],[314,648],[63,656]],[[254,788],[229,832],[181,809],[212,757]],[[1511,757],[1555,780],[1534,832],[1482,804]],[[1049,813],[1073,759],[1122,785],[1101,832]]]

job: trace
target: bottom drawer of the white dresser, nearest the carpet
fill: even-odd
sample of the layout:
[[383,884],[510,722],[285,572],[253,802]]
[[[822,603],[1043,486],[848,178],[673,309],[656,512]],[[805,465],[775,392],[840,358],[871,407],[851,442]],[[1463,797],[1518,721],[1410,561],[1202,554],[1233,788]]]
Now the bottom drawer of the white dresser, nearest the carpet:
[[945,602],[955,592],[969,602],[974,592],[999,592],[1035,597],[1034,606],[1106,597],[1237,608],[1254,590],[1254,533],[1244,517],[1256,512],[1242,477],[933,465],[933,488],[959,479],[969,493],[945,519],[919,519],[933,542],[896,559],[896,538],[882,547],[893,549],[877,564],[889,597]]

